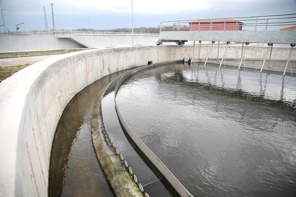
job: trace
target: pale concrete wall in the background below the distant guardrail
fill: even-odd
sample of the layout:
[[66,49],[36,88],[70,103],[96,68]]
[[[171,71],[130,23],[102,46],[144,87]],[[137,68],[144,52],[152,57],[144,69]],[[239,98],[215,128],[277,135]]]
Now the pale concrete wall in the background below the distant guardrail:
[[[90,46],[131,45],[132,36],[127,35],[87,35]],[[154,44],[158,36],[134,36],[134,44]],[[82,48],[81,45],[68,38],[57,38],[56,35],[1,35],[0,52],[40,51],[55,49]]]

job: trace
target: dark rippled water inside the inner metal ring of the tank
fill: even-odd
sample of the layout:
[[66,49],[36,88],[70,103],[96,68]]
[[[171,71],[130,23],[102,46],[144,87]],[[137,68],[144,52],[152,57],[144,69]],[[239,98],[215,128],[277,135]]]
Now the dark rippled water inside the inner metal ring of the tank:
[[296,77],[170,64],[133,75],[116,98],[193,195],[296,194]]

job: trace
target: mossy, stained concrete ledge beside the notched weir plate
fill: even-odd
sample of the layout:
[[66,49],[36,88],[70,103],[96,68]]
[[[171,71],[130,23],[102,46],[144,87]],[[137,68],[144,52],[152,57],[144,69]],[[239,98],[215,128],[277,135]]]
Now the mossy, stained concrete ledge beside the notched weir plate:
[[111,143],[105,140],[107,136],[104,132],[102,115],[99,113],[103,92],[98,94],[92,111],[91,138],[96,156],[116,196],[144,196],[119,156],[112,151]]

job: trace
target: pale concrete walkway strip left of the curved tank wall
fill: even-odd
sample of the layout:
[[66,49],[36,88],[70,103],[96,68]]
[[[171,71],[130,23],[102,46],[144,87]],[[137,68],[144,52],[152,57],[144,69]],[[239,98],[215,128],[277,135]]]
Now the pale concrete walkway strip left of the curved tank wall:
[[40,62],[40,61],[42,61],[44,59],[48,59],[48,58],[51,58],[51,57],[54,57],[54,56],[57,56],[57,55],[0,59],[0,67],[34,64],[36,62]]

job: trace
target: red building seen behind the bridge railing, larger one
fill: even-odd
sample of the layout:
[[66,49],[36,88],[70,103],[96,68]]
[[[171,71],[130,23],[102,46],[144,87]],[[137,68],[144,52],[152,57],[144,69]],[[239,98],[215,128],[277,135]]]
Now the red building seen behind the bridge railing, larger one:
[[196,20],[189,22],[189,31],[223,31],[225,24],[226,31],[242,30],[243,22],[233,19]]

